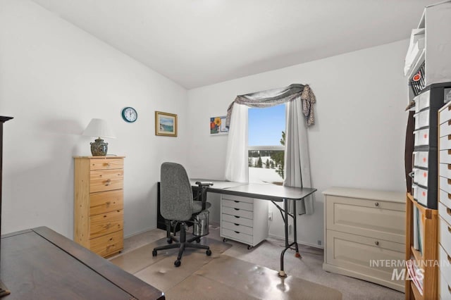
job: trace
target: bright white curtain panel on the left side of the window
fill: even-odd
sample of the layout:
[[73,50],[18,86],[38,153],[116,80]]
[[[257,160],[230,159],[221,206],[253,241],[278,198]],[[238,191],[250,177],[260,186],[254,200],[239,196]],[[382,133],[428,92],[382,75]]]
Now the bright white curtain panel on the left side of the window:
[[249,181],[247,165],[247,109],[242,104],[233,104],[230,116],[226,153],[226,180]]

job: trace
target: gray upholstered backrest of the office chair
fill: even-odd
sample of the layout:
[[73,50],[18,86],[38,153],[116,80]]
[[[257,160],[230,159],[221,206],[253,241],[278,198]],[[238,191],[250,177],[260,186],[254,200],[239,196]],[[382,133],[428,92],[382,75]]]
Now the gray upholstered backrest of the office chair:
[[168,220],[186,221],[192,215],[192,187],[183,165],[161,164],[160,213]]

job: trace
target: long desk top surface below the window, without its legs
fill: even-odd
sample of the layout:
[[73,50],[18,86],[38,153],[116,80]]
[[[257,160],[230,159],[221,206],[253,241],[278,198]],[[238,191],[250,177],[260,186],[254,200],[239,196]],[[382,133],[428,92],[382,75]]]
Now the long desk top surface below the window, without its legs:
[[213,182],[213,186],[207,189],[208,192],[235,196],[247,196],[272,201],[283,201],[284,199],[300,200],[316,192],[316,189],[309,187],[283,187],[281,185],[264,185],[258,183],[230,182],[222,180],[191,179],[190,181],[192,186],[196,186],[195,182],[197,181]]

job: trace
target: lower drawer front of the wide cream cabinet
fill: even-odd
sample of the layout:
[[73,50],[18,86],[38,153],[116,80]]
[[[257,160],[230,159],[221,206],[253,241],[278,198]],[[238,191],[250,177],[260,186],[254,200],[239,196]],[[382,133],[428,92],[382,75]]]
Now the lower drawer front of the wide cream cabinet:
[[[353,272],[393,282],[393,266],[390,266],[390,264],[371,265],[371,263],[385,260],[404,261],[405,258],[404,244],[333,230],[327,230],[326,235],[327,263]],[[393,283],[403,285],[403,278]]]

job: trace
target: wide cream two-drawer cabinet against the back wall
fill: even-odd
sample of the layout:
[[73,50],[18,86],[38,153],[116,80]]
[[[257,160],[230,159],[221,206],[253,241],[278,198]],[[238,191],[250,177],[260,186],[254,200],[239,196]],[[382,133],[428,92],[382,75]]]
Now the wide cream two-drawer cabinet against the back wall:
[[[404,292],[400,273],[405,251],[405,194],[332,187],[324,201],[323,270]],[[388,263],[389,262],[389,263]]]

